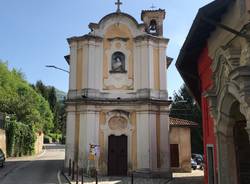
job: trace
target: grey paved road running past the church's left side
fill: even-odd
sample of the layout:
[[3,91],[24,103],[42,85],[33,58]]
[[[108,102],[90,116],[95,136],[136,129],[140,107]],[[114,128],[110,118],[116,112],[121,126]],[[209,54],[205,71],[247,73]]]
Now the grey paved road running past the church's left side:
[[[48,145],[38,157],[8,159],[6,167],[0,170],[1,184],[57,184],[58,171],[63,166],[64,147]],[[9,170],[9,171],[8,171]],[[62,182],[66,183],[62,177]]]

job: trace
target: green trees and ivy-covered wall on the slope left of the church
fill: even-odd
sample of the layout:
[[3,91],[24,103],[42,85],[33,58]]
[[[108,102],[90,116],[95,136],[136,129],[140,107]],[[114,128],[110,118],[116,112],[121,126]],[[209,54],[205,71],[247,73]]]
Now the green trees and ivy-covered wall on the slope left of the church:
[[63,105],[58,104],[55,89],[51,90],[52,93],[44,97],[37,86],[30,85],[24,79],[20,71],[9,70],[8,64],[0,61],[0,112],[7,115],[8,156],[32,154],[35,132],[61,133]]

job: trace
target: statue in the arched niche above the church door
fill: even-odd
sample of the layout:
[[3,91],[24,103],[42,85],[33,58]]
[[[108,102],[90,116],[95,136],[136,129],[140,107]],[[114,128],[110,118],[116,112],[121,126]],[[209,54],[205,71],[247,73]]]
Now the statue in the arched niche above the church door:
[[126,73],[125,55],[122,52],[115,52],[112,55],[110,73]]

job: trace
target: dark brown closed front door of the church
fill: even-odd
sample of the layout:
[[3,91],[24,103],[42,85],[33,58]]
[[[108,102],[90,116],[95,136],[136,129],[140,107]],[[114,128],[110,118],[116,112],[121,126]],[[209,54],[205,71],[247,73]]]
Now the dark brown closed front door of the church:
[[108,140],[108,175],[126,176],[128,170],[128,138],[122,136],[109,136]]

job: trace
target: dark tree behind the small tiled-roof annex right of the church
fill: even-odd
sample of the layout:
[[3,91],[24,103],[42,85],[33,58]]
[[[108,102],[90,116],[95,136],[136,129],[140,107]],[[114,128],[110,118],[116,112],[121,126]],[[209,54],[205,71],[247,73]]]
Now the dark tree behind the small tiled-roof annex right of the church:
[[196,122],[197,127],[191,128],[192,153],[203,153],[202,114],[186,85],[178,93],[174,93],[170,117]]

